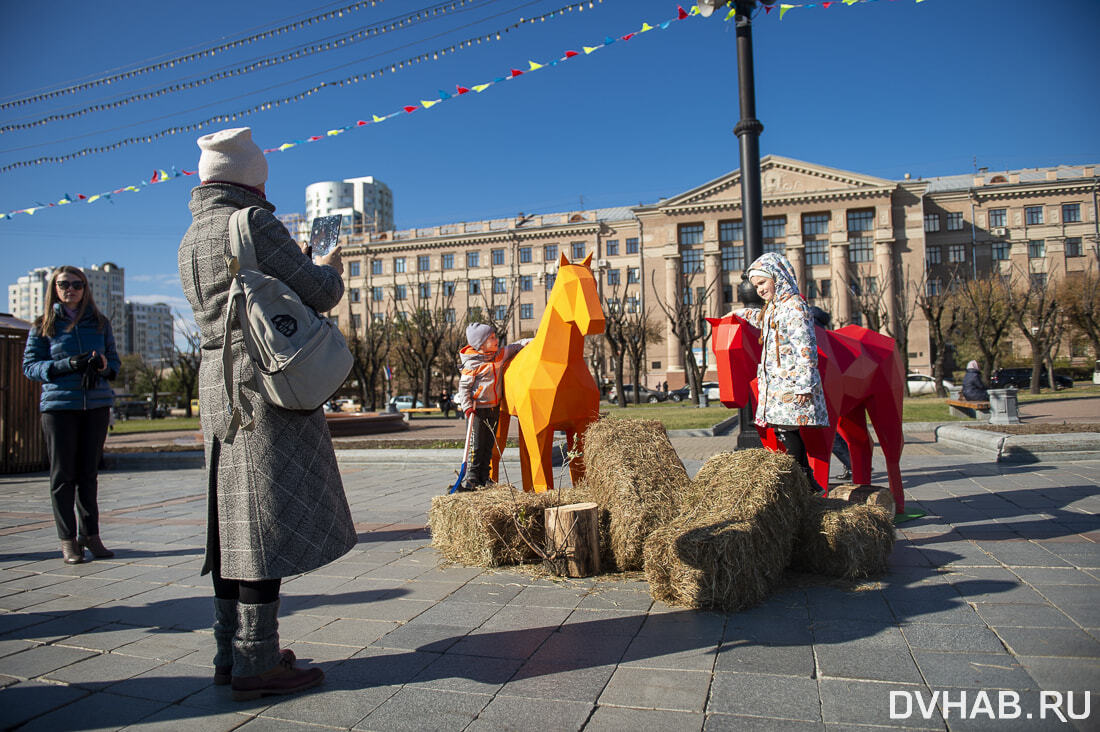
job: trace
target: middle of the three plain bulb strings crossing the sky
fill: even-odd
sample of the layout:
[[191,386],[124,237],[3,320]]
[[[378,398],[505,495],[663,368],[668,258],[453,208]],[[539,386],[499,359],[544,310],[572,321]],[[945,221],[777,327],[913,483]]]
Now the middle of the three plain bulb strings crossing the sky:
[[417,10],[415,12],[403,15],[396,20],[391,19],[383,21],[382,23],[375,23],[374,25],[366,25],[358,29],[353,33],[344,34],[340,37],[329,39],[321,42],[306,43],[294,48],[287,50],[285,53],[278,54],[276,56],[268,56],[266,58],[261,58],[249,64],[241,66],[235,66],[233,68],[226,68],[215,74],[208,76],[193,79],[190,81],[180,81],[177,84],[170,84],[158,89],[151,89],[150,91],[141,91],[138,94],[130,95],[129,97],[123,97],[121,99],[116,99],[113,101],[107,101],[98,105],[89,105],[80,109],[74,110],[72,112],[64,112],[57,114],[47,114],[36,120],[30,122],[19,122],[12,124],[0,125],[0,134],[6,132],[13,132],[16,130],[30,130],[36,127],[44,127],[51,122],[59,122],[63,120],[77,119],[78,117],[84,117],[85,114],[90,114],[91,112],[101,112],[110,109],[118,109],[120,107],[125,107],[127,105],[133,103],[135,101],[147,101],[155,97],[161,97],[166,94],[175,94],[177,91],[187,91],[189,89],[196,89],[198,87],[207,86],[208,84],[213,84],[215,81],[221,81],[222,79],[232,78],[234,76],[243,76],[245,74],[251,74],[253,72],[258,72],[264,68],[270,68],[272,66],[279,66],[299,58],[306,58],[307,56],[312,56],[319,53],[326,53],[328,51],[336,51],[337,48],[343,48],[345,46],[359,43],[361,41],[366,41],[367,39],[373,39],[383,33],[388,33],[392,30],[407,28],[409,25],[416,25],[418,23],[429,21],[439,14],[446,14],[449,10],[457,8],[463,8],[471,2],[476,0],[447,0],[447,2],[439,3],[431,8],[425,8],[424,10]]

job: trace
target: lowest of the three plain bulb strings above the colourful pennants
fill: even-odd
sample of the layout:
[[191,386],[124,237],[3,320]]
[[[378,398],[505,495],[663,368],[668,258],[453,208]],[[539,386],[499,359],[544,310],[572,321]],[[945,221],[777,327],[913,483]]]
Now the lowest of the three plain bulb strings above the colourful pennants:
[[[22,160],[15,161],[13,163],[8,163],[7,165],[0,166],[0,173],[7,173],[8,171],[13,171],[22,167],[33,167],[35,165],[47,165],[52,163],[65,163],[70,160],[76,160],[77,157],[86,157],[88,155],[97,155],[99,153],[111,152],[112,150],[118,150],[120,148],[127,148],[134,144],[144,144],[150,142],[155,142],[162,138],[166,138],[173,134],[179,134],[182,132],[195,132],[201,130],[210,124],[216,124],[220,122],[235,122],[239,119],[255,114],[256,112],[266,111],[274,107],[280,107],[283,105],[293,105],[294,102],[301,101],[307,97],[311,97],[318,91],[329,88],[342,88],[345,85],[359,84],[360,81],[365,81],[367,79],[373,79],[376,76],[382,77],[387,70],[391,74],[395,74],[403,70],[414,64],[419,64],[427,61],[438,61],[440,56],[446,56],[448,52],[455,53],[462,48],[469,48],[474,45],[481,45],[482,43],[490,43],[492,41],[499,41],[504,37],[504,34],[510,33],[512,31],[521,28],[522,25],[529,23],[543,22],[547,19],[557,18],[566,12],[572,12],[573,10],[581,11],[585,6],[592,8],[595,2],[603,3],[604,0],[580,0],[569,6],[558,8],[557,10],[551,10],[549,12],[542,13],[541,15],[536,15],[534,18],[520,18],[517,22],[512,23],[505,28],[501,28],[496,31],[491,31],[485,35],[476,35],[474,37],[465,39],[453,43],[449,46],[442,48],[437,48],[435,51],[427,51],[425,53],[417,54],[409,58],[405,58],[398,62],[392,62],[380,68],[375,68],[373,72],[363,72],[362,74],[353,74],[351,76],[344,77],[342,79],[337,79],[334,81],[321,81],[320,84],[314,85],[308,89],[304,89],[297,94],[293,94],[286,97],[280,97],[277,99],[268,99],[266,101],[261,101],[260,103],[253,105],[246,109],[240,109],[235,112],[226,112],[221,114],[215,114],[208,117],[205,120],[199,120],[198,122],[191,122],[190,124],[184,124],[180,127],[170,127],[156,132],[151,132],[148,134],[138,135],[134,138],[125,138],[123,140],[117,140],[114,142],[108,143],[106,145],[98,145],[95,148],[82,148],[80,150],[75,150],[70,153],[65,153],[63,155],[44,155],[42,157],[35,157],[33,160]],[[503,14],[503,13],[502,13]]]

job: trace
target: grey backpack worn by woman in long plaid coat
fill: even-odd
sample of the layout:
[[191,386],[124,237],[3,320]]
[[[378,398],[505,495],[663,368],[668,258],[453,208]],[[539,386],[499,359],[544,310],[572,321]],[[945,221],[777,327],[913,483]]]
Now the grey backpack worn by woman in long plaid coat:
[[233,282],[229,287],[221,348],[226,394],[232,411],[224,438],[229,444],[238,429],[251,429],[253,423],[252,405],[242,385],[237,384],[234,390],[232,383],[230,328],[234,318],[252,359],[255,372],[252,386],[268,404],[311,412],[340,389],[353,362],[343,334],[328,318],[302,303],[283,281],[260,271],[249,226],[250,211],[238,210],[229,217],[231,256],[227,264]]

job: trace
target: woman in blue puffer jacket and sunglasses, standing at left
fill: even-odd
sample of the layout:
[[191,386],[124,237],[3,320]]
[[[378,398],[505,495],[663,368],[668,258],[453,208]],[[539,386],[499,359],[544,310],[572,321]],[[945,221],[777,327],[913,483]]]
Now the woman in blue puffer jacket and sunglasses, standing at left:
[[75,266],[58,267],[50,277],[44,313],[26,339],[23,373],[45,383],[38,408],[65,564],[84,561],[85,548],[97,558],[114,556],[99,538],[96,494],[114,401],[107,382],[120,365],[111,323],[96,307],[88,278]]

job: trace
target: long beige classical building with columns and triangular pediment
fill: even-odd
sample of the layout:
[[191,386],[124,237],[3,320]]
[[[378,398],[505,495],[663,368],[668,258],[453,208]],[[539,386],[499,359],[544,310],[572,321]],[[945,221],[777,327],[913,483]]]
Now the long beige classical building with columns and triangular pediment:
[[[894,294],[912,307],[917,287],[935,292],[952,276],[996,266],[1058,278],[1098,266],[1100,178],[1092,165],[889,181],[768,155],[761,178],[765,251],[791,260],[803,294],[837,327],[862,324],[865,293],[881,293],[893,318]],[[646,206],[352,237],[344,247],[348,295],[330,315],[358,328],[419,303],[442,305],[458,321],[471,308],[492,309],[497,320],[507,316],[510,339],[521,338],[538,325],[559,256],[590,253],[613,305],[661,321],[657,299],[702,296],[708,314],[722,315],[736,306],[747,264],[740,201],[734,171]],[[644,383],[674,389],[684,383],[684,364],[666,330],[664,342],[649,348]],[[927,372],[920,314],[909,335],[910,368]]]

